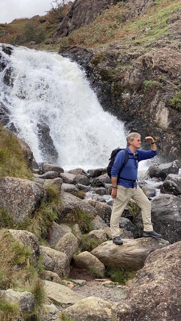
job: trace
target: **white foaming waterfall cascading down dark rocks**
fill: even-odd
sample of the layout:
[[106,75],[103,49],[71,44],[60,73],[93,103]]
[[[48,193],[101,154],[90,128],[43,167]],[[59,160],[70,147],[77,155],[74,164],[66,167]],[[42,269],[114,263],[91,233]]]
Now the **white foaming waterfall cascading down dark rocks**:
[[112,149],[125,147],[124,124],[103,111],[75,62],[25,47],[3,55],[13,70],[14,86],[3,83],[5,71],[0,72],[0,103],[10,110],[10,121],[38,163],[47,161],[39,144],[40,121],[49,126],[57,163],[65,170],[106,167]]

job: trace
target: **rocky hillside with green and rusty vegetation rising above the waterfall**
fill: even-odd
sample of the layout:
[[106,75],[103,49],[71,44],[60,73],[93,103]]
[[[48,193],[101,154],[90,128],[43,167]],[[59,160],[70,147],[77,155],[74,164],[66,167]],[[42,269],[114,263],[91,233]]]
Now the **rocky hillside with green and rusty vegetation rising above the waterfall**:
[[75,0],[60,23],[48,13],[1,25],[10,33],[1,40],[77,61],[104,110],[126,129],[153,135],[163,158],[180,157],[180,1],[94,5]]

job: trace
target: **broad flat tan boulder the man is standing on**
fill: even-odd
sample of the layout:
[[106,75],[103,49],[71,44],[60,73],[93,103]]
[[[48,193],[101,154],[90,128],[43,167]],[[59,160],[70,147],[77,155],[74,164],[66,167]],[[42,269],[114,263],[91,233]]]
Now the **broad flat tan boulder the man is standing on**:
[[123,245],[107,241],[91,251],[105,266],[119,267],[124,270],[137,271],[144,265],[148,254],[169,243],[161,239],[141,238],[123,239]]

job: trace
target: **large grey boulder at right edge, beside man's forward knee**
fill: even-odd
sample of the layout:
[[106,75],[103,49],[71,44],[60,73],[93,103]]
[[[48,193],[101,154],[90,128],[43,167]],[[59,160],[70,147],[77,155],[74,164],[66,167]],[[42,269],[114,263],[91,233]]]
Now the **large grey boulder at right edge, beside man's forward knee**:
[[181,240],[180,209],[181,199],[174,195],[158,195],[151,201],[153,228],[170,243]]

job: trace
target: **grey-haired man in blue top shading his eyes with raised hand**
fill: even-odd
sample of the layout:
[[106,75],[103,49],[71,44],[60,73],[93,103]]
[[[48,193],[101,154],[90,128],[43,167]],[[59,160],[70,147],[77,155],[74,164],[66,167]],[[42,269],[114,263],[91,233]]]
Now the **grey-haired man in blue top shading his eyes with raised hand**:
[[155,239],[161,237],[161,234],[153,231],[151,224],[151,203],[140,187],[136,184],[138,162],[144,161],[144,159],[152,158],[157,154],[157,148],[154,139],[151,136],[147,136],[145,139],[150,142],[150,150],[139,149],[141,146],[141,135],[137,132],[131,132],[126,137],[126,149],[129,156],[128,162],[122,169],[120,176],[119,171],[126,158],[125,150],[120,150],[117,153],[114,165],[112,166],[111,197],[114,199],[114,205],[111,214],[110,227],[113,243],[116,245],[123,244],[119,235],[119,218],[130,199],[133,199],[141,208],[144,226],[143,237],[151,236]]

